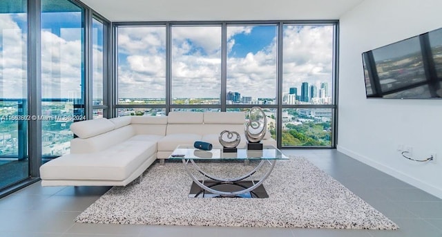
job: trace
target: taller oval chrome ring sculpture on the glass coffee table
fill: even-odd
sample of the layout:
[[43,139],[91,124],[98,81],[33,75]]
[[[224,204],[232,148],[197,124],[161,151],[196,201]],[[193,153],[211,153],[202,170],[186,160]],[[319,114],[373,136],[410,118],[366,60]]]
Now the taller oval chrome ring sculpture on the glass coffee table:
[[267,117],[262,108],[254,106],[249,111],[249,121],[244,133],[249,142],[260,142],[267,132]]

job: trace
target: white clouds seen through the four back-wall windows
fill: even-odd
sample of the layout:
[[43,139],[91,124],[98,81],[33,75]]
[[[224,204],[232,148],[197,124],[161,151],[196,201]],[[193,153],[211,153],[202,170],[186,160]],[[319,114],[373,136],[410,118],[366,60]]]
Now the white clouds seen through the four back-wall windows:
[[[164,97],[165,42],[158,33],[142,28],[119,30],[120,53],[127,64],[119,64],[120,97]],[[235,35],[250,35],[253,27],[229,26],[228,50]],[[219,97],[220,28],[173,27],[172,96]],[[124,33],[124,34],[123,34]],[[149,39],[149,40],[148,40]],[[141,44],[140,41],[144,43]],[[159,44],[161,42],[161,44]],[[320,86],[332,79],[333,26],[289,26],[284,32],[284,89],[302,82]],[[227,91],[243,96],[275,97],[276,38],[271,44],[245,57],[229,57]],[[162,61],[164,60],[164,61]],[[331,90],[331,86],[329,86]],[[160,90],[160,91],[155,91]]]

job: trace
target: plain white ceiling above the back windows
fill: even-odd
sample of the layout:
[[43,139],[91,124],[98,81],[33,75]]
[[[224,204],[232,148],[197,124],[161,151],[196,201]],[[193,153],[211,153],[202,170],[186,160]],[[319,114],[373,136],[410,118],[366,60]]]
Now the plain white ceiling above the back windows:
[[110,21],[339,19],[363,0],[81,0]]

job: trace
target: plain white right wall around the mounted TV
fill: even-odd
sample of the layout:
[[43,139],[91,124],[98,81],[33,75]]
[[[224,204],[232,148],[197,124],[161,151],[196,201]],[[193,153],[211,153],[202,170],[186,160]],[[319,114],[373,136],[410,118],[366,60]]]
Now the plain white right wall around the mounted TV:
[[[365,0],[340,18],[338,151],[442,198],[442,99],[366,99],[361,53],[442,28],[440,0]],[[439,155],[436,164],[412,162]]]

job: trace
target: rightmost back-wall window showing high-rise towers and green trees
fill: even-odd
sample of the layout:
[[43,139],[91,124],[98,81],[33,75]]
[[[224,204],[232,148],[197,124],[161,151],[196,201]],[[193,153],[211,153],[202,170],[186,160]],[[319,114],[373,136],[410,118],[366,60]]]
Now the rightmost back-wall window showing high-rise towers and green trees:
[[334,30],[284,26],[282,146],[332,146]]

